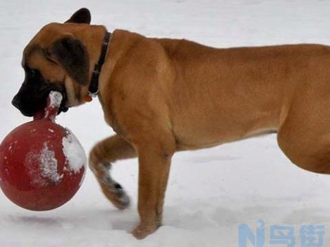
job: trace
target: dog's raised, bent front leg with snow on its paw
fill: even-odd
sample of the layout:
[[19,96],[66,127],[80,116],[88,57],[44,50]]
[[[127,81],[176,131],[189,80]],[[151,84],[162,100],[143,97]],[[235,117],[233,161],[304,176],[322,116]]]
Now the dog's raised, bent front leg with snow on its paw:
[[118,134],[97,143],[89,154],[89,167],[96,176],[104,195],[118,209],[129,206],[129,196],[122,186],[110,176],[111,163],[115,161],[134,158],[134,148]]

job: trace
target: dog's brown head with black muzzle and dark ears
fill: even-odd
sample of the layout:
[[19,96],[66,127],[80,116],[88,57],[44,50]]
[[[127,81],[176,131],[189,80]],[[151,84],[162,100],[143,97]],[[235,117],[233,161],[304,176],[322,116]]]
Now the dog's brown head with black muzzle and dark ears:
[[81,38],[91,21],[89,10],[78,10],[62,23],[45,25],[23,51],[25,80],[12,104],[31,117],[45,108],[50,91],[60,91],[60,112],[83,103],[89,84],[89,54]]

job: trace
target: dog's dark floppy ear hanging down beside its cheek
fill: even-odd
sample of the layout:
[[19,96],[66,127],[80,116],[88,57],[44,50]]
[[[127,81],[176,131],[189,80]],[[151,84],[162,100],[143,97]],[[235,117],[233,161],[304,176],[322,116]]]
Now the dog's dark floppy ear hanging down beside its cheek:
[[87,49],[74,36],[65,36],[55,40],[47,56],[63,66],[70,78],[80,85],[89,82],[89,56]]

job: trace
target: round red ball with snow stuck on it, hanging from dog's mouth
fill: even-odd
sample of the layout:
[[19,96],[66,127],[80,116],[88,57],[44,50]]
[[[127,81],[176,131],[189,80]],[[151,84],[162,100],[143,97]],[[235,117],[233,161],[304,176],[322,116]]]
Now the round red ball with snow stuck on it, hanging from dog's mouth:
[[25,209],[60,207],[83,182],[85,152],[74,134],[52,119],[22,124],[0,145],[0,187]]

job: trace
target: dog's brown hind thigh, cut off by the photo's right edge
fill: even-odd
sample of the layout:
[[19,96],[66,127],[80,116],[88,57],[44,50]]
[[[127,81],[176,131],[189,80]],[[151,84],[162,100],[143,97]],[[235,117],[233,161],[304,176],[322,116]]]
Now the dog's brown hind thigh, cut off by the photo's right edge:
[[329,100],[300,95],[278,130],[278,145],[298,167],[330,174]]

